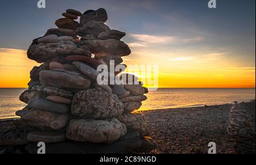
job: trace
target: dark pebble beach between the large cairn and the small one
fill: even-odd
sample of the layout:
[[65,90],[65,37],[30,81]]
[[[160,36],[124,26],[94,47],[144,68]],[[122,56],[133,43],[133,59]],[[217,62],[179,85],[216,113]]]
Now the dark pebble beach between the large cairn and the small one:
[[143,111],[155,139],[152,153],[208,153],[208,143],[215,142],[217,153],[233,154],[228,134],[231,105]]

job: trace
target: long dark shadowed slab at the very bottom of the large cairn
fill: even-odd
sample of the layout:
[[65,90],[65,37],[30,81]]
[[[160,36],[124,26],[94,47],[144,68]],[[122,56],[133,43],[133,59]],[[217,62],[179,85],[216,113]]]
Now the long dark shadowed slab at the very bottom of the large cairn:
[[[30,143],[26,146],[29,154],[36,154],[38,143]],[[60,142],[47,143],[46,154],[128,154],[142,146],[138,132],[127,134],[111,144],[89,142]]]

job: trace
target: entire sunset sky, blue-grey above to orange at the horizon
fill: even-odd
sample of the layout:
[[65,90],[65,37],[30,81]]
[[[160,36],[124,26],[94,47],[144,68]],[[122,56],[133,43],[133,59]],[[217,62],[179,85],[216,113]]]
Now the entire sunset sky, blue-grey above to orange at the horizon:
[[[66,9],[104,7],[108,26],[126,32],[125,64],[159,66],[159,87],[255,87],[255,0],[3,0],[0,87],[27,87],[39,65],[26,50]],[[135,73],[138,76],[144,76]]]

